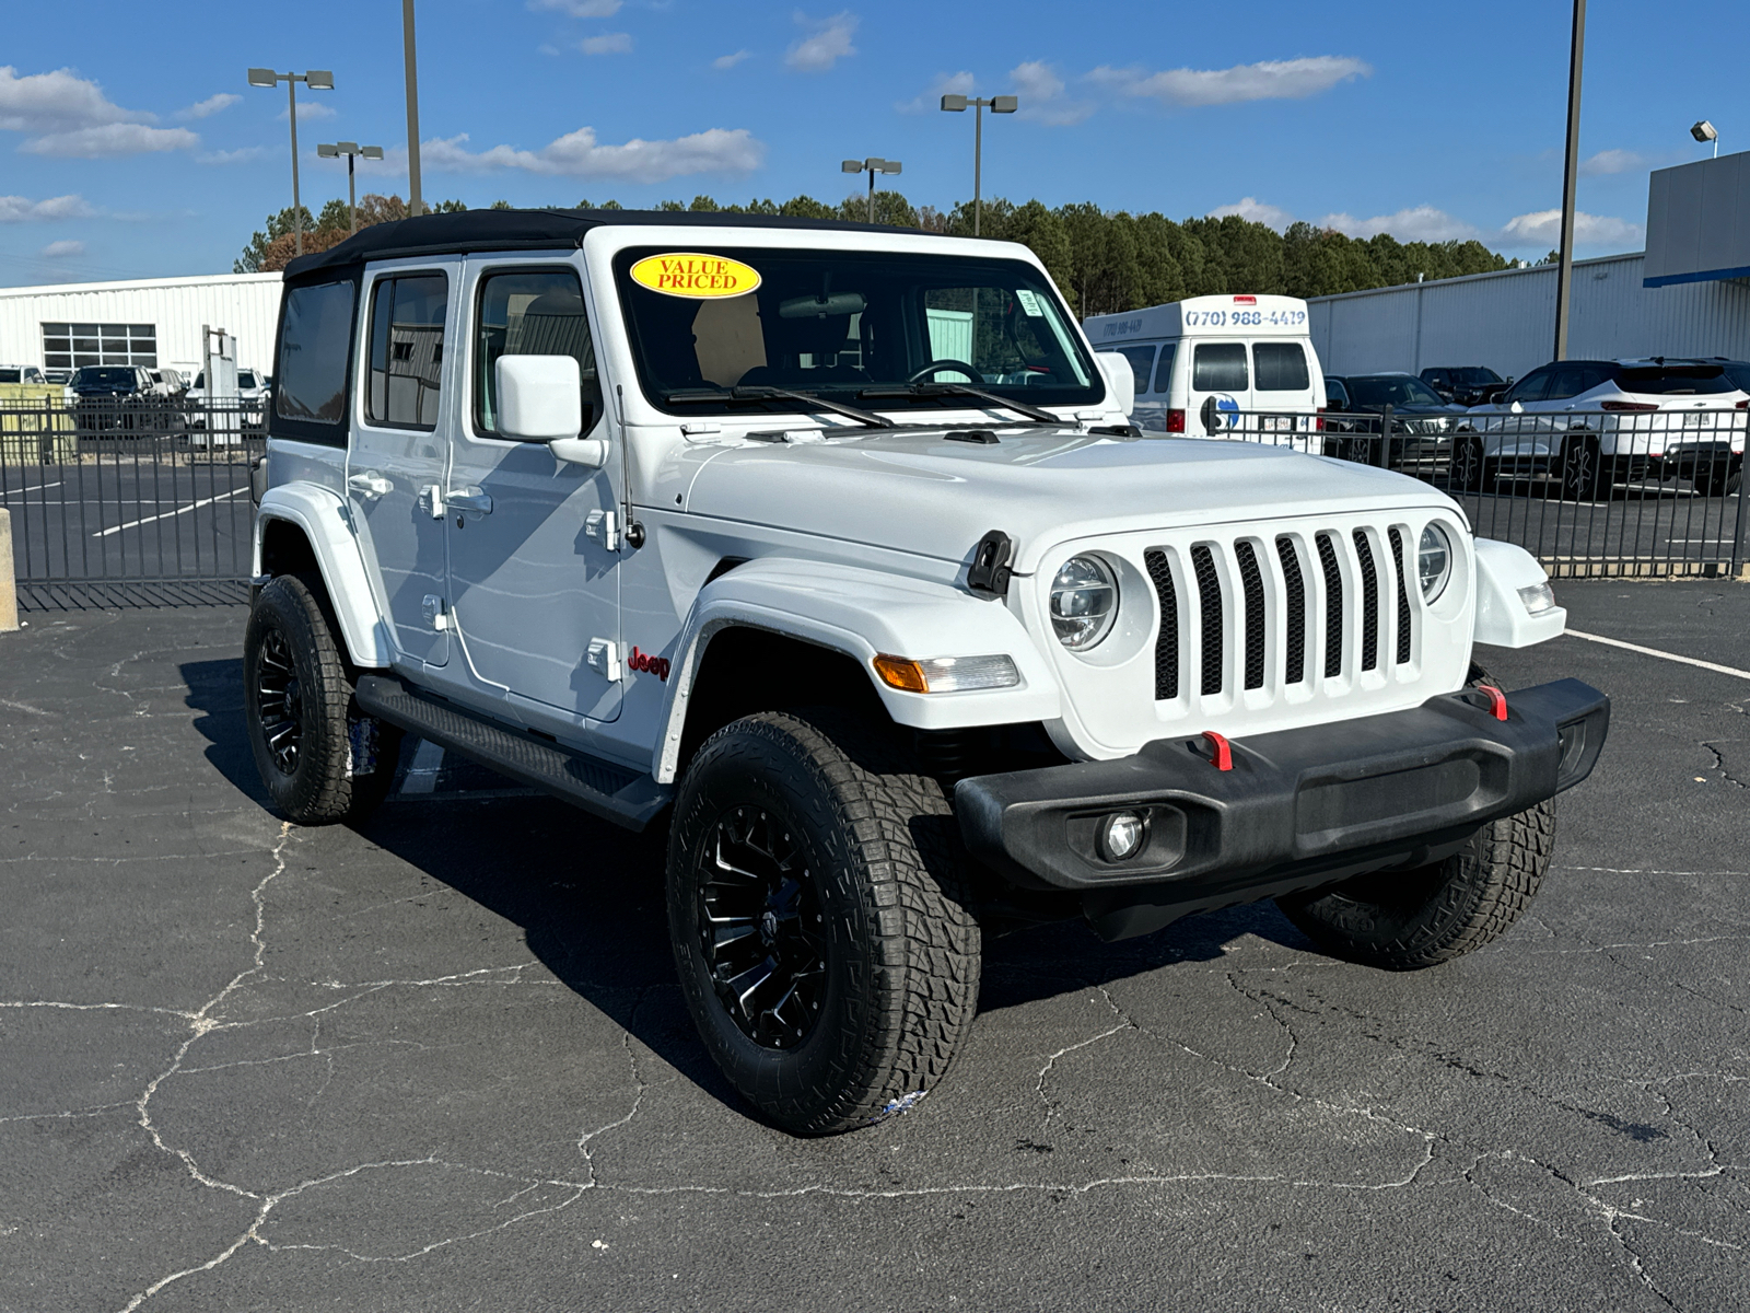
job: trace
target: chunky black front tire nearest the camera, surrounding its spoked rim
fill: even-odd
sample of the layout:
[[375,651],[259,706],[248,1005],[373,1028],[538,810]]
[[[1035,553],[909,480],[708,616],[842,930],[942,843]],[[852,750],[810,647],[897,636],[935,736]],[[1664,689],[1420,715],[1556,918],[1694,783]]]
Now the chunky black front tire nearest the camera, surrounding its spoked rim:
[[[732,1015],[705,944],[705,861],[721,826],[749,811],[794,837],[814,881],[824,968],[817,1021],[794,1047],[761,1043]],[[698,749],[668,840],[670,942],[705,1047],[772,1124],[849,1131],[942,1082],[978,1008],[964,863],[942,786],[847,713],[761,713]]]

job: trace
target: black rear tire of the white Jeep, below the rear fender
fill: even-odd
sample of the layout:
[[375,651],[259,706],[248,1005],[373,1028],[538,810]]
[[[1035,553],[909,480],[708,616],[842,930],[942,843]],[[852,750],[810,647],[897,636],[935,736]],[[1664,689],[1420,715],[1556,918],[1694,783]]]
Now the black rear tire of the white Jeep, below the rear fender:
[[[284,769],[262,720],[270,664],[289,658],[298,681],[298,755]],[[401,730],[364,716],[354,681],[317,592],[290,574],[262,586],[243,632],[243,720],[261,783],[273,804],[298,825],[364,819],[387,795],[401,751]],[[354,770],[354,727],[374,739],[374,760]]]

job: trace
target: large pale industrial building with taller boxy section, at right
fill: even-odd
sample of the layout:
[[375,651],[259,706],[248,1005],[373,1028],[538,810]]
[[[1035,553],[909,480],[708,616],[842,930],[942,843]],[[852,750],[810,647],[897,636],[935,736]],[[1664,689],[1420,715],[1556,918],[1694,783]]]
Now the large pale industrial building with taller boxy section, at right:
[[[1652,173],[1647,250],[1573,264],[1570,359],[1750,361],[1750,152]],[[1307,301],[1328,373],[1549,364],[1556,266],[1477,273]]]

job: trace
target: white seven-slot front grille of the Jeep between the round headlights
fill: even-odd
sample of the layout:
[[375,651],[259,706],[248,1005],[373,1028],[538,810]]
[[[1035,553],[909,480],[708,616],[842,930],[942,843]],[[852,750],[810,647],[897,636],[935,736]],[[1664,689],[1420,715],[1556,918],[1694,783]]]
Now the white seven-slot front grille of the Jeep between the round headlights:
[[[1390,565],[1376,550],[1381,536],[1390,544]],[[1410,606],[1405,530],[1388,525],[1381,534],[1372,527],[1346,525],[1344,530],[1320,530],[1311,539],[1281,534],[1264,541],[1274,543],[1274,551],[1269,546],[1260,551],[1256,539],[1250,537],[1143,551],[1160,602],[1157,702],[1192,693],[1239,695],[1344,676],[1353,679],[1377,672],[1386,648],[1396,665],[1410,662],[1418,613]],[[1311,557],[1318,557],[1316,571]],[[1382,571],[1390,571],[1390,581],[1381,579]],[[1321,590],[1316,586],[1320,579]],[[1346,579],[1358,590],[1354,606],[1348,606]],[[1393,611],[1384,614],[1381,588],[1395,588],[1396,600]],[[1185,690],[1180,681],[1185,660],[1180,653],[1180,599],[1190,590],[1197,599],[1186,637],[1195,644],[1190,658],[1195,688]],[[1239,651],[1228,649],[1228,634],[1236,635]],[[1279,635],[1274,644],[1272,634]],[[1323,651],[1323,662],[1316,658],[1318,651]],[[1281,653],[1279,658],[1276,653]],[[1281,664],[1272,669],[1276,660]],[[1256,700],[1248,699],[1248,704],[1256,706]]]

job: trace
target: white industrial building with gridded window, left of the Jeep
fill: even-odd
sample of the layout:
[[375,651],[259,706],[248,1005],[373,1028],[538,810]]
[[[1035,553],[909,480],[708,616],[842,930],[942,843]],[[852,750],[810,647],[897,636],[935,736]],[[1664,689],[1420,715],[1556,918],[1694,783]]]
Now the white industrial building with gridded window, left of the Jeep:
[[236,338],[245,369],[271,373],[278,273],[0,287],[0,364],[201,368],[201,327]]

